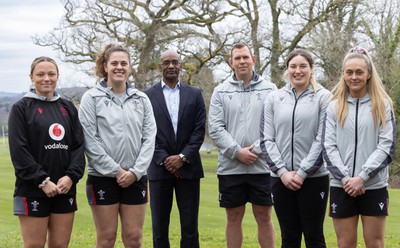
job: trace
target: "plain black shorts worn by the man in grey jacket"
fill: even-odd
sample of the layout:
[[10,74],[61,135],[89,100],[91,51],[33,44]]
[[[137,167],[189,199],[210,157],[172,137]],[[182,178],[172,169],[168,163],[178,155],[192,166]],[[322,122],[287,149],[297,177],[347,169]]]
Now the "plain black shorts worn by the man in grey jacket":
[[218,179],[220,207],[235,208],[247,202],[272,206],[269,174],[218,175]]

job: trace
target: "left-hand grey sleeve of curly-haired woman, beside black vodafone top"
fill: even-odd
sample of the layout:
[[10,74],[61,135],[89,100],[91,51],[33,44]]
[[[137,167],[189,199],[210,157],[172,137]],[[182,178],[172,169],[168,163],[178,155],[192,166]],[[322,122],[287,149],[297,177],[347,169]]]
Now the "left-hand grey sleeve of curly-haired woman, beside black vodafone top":
[[89,164],[103,176],[116,177],[121,166],[107,154],[97,133],[96,102],[90,91],[82,97],[79,120],[83,127],[85,152]]

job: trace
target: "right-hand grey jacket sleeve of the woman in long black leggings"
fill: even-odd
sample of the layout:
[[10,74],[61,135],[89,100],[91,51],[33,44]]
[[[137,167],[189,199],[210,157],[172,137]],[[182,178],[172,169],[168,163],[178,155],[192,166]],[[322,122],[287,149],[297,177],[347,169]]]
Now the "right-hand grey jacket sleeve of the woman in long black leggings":
[[323,96],[321,96],[319,102],[318,133],[317,136],[314,138],[310,151],[308,152],[307,156],[301,161],[300,169],[297,171],[297,174],[302,178],[306,178],[307,176],[312,175],[324,164],[322,159],[321,134],[322,126],[325,121],[326,108],[328,107],[328,104],[332,99],[332,94],[328,90],[323,90],[322,94]]

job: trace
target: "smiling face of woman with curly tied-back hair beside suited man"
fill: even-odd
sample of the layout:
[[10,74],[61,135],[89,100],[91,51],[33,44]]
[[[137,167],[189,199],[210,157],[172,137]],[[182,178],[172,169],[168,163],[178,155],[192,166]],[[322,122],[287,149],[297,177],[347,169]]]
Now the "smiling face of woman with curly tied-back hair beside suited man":
[[128,54],[122,51],[112,52],[107,62],[104,64],[104,70],[107,73],[107,83],[111,87],[124,84],[130,72]]

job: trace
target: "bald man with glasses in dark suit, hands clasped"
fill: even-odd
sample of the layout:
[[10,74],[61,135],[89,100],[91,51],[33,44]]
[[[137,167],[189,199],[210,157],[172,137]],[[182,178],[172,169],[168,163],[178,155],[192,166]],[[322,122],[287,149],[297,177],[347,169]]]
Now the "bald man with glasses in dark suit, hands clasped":
[[168,228],[173,191],[181,223],[181,247],[199,247],[200,178],[204,177],[200,146],[206,111],[200,89],[179,81],[182,68],[177,52],[160,57],[163,78],[144,92],[157,123],[156,148],[147,175],[154,248],[170,247]]

